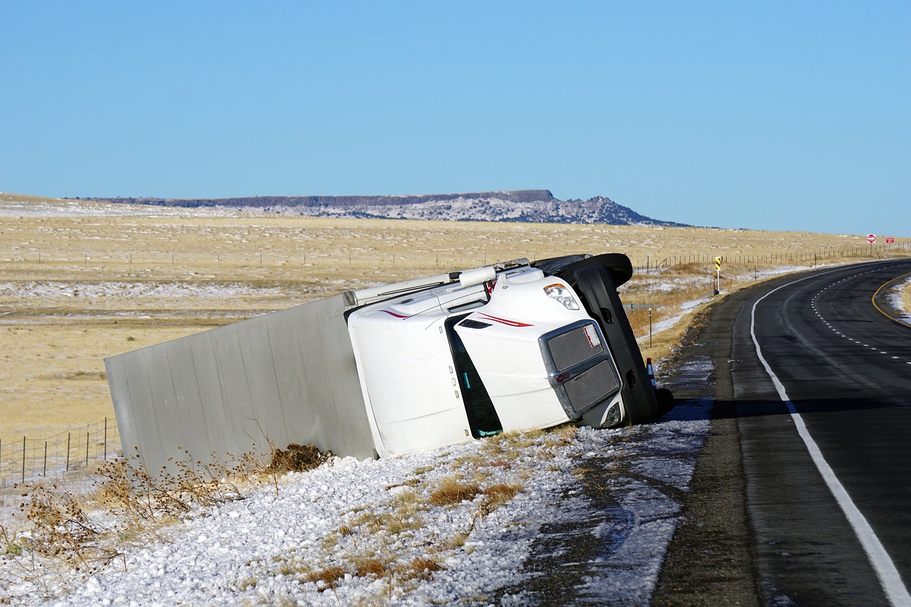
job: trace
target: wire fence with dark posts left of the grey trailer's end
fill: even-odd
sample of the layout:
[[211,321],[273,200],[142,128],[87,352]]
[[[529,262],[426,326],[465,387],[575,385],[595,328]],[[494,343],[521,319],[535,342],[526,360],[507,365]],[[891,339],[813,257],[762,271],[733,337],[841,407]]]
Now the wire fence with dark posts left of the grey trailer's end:
[[0,488],[36,478],[59,477],[119,453],[117,421],[108,417],[53,437],[0,441]]

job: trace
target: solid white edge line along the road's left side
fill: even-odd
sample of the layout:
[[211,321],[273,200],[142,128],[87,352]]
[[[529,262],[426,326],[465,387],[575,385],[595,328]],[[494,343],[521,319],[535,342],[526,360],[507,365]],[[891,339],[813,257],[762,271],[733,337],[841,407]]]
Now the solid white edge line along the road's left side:
[[[775,386],[775,390],[778,392],[779,398],[781,398],[784,405],[788,407],[794,427],[797,429],[797,433],[800,437],[804,439],[804,445],[810,453],[810,457],[813,458],[816,468],[823,476],[826,487],[832,492],[832,496],[844,512],[845,518],[855,530],[855,535],[857,536],[857,539],[860,540],[861,546],[863,546],[864,551],[866,552],[866,557],[876,572],[876,577],[879,578],[886,598],[893,605],[911,605],[911,594],[908,593],[905,582],[902,581],[902,576],[896,569],[896,564],[892,561],[892,558],[889,557],[889,553],[885,551],[883,542],[876,537],[875,531],[870,527],[870,523],[867,522],[864,514],[857,508],[854,500],[851,499],[847,490],[844,489],[844,485],[842,485],[841,481],[835,476],[832,467],[825,461],[823,451],[816,444],[816,441],[810,435],[810,431],[804,423],[804,417],[797,412],[797,408],[793,406],[793,402],[791,402],[791,398],[784,390],[781,380],[778,379],[778,376],[775,375],[768,361],[765,360],[763,349],[760,347],[759,339],[756,337],[756,306],[758,306],[763,299],[779,289],[816,276],[819,276],[819,274],[807,276],[776,287],[769,293],[765,293],[752,304],[752,310],[750,311],[750,335],[752,336],[752,343],[756,346],[756,355],[759,356],[759,361],[763,364],[765,372],[772,379],[772,383]],[[908,364],[911,365],[911,363]]]

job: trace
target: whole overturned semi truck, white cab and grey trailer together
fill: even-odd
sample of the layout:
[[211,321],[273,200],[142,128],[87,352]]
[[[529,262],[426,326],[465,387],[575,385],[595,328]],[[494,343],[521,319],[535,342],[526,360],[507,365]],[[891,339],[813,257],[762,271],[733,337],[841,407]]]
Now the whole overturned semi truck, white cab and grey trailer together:
[[673,406],[620,302],[626,255],[517,259],[341,293],[105,360],[149,471],[312,444],[385,457]]

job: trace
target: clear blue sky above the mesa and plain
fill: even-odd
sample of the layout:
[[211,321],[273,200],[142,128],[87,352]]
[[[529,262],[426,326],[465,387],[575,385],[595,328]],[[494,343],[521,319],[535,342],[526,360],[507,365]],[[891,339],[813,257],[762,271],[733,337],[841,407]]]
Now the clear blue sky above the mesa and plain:
[[911,236],[911,3],[0,2],[0,190]]

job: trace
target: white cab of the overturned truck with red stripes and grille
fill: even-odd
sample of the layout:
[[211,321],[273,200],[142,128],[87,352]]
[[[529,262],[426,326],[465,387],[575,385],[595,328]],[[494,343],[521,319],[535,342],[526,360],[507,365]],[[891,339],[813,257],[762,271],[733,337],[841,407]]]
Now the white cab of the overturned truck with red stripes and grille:
[[[561,270],[597,265],[581,256],[558,259]],[[630,423],[609,338],[571,278],[555,272],[556,261],[535,267],[513,260],[347,293],[348,331],[379,456],[568,421]],[[612,285],[605,289],[616,295]],[[609,315],[616,323],[618,314]],[[625,315],[622,321],[629,326]],[[644,378],[641,360],[639,366],[628,383]],[[647,381],[644,387],[651,392]]]

